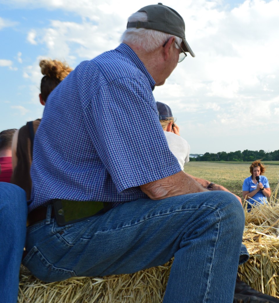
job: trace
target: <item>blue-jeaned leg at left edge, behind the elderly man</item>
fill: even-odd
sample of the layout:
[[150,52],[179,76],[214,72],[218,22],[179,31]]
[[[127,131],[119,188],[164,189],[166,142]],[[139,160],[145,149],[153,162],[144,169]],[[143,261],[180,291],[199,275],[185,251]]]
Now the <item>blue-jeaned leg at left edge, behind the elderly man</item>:
[[16,303],[19,269],[26,235],[27,202],[17,185],[0,182],[1,302]]

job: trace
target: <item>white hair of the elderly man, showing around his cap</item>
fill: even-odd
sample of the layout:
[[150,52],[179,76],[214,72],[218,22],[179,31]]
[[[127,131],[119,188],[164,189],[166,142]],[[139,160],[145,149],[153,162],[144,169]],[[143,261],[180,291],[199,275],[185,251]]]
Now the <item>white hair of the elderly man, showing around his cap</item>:
[[[129,17],[128,22],[147,22],[147,20],[148,16],[146,12],[136,12]],[[178,45],[181,45],[181,38],[147,28],[127,28],[121,36],[121,42],[137,45],[143,48],[146,52],[152,52],[168,41],[170,37],[175,37],[175,42]],[[179,48],[178,45],[175,44],[175,47]]]

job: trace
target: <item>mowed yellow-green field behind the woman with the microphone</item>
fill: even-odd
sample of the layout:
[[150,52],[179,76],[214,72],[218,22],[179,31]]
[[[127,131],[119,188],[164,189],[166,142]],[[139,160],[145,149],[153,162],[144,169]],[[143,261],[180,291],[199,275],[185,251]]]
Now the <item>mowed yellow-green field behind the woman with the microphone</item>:
[[[267,177],[271,191],[274,191],[279,178],[279,161],[265,161]],[[185,164],[188,174],[214,182],[228,188],[229,191],[242,198],[242,184],[249,177],[251,162],[204,162],[190,161]]]

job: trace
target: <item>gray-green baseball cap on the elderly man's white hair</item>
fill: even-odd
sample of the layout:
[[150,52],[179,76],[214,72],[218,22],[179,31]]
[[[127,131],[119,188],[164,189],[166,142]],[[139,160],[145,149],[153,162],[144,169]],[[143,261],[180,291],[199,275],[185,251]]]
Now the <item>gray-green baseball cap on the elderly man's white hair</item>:
[[174,9],[158,3],[155,5],[144,6],[138,12],[146,12],[147,22],[128,22],[127,28],[147,28],[155,31],[164,32],[182,38],[182,48],[189,52],[192,57],[195,56],[188,42],[185,39],[185,23],[181,15]]

